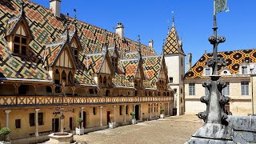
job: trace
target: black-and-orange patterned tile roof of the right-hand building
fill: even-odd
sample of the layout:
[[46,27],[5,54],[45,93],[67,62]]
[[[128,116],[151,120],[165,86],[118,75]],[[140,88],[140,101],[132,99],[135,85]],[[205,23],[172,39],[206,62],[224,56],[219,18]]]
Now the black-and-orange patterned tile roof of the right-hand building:
[[[198,62],[196,62],[194,66],[186,72],[185,78],[205,78],[202,77],[203,68],[206,66],[207,59],[212,57],[212,53],[203,54]],[[242,62],[256,62],[256,49],[218,52],[218,57],[226,59],[226,66],[219,68],[218,74],[220,74],[223,69],[229,70],[230,74],[239,74],[239,66]]]

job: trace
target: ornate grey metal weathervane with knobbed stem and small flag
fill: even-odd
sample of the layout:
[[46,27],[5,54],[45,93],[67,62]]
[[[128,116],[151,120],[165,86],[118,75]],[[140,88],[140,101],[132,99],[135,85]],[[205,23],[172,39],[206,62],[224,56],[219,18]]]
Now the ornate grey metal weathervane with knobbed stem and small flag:
[[218,75],[218,68],[226,66],[226,60],[218,57],[218,44],[225,42],[226,38],[217,36],[216,14],[227,9],[226,0],[214,0],[214,35],[208,38],[210,44],[214,46],[213,58],[209,58],[207,65],[212,68],[210,81],[203,82],[202,86],[206,87],[210,94],[200,98],[201,102],[206,103],[206,111],[198,113],[198,118],[202,118],[206,123],[226,124],[227,114],[225,105],[230,101],[229,97],[222,94],[222,89],[226,83],[222,82]]

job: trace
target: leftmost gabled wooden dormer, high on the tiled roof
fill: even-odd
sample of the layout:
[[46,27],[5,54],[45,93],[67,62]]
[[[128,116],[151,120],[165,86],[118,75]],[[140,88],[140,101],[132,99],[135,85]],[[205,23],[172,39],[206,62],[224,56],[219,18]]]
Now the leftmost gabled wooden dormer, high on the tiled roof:
[[18,56],[29,54],[29,42],[32,39],[32,33],[24,13],[22,7],[18,18],[10,18],[6,26],[6,40],[9,42],[10,52]]

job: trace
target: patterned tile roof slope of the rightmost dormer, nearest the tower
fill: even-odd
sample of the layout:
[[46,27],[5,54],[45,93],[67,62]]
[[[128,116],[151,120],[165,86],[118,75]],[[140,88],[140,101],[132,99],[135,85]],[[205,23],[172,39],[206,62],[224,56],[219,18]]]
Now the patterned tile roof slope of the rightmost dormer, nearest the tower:
[[144,71],[151,82],[158,82],[162,67],[162,55],[143,57]]

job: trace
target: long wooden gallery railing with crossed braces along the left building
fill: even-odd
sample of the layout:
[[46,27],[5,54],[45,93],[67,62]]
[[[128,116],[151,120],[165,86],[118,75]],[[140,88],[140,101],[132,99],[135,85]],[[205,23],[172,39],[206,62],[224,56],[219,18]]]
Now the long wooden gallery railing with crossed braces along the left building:
[[81,97],[81,96],[0,96],[0,107],[6,106],[47,106],[47,105],[82,105],[114,104],[141,102],[173,102],[173,96],[155,97]]

